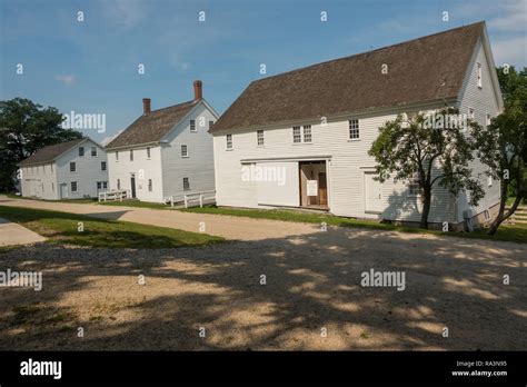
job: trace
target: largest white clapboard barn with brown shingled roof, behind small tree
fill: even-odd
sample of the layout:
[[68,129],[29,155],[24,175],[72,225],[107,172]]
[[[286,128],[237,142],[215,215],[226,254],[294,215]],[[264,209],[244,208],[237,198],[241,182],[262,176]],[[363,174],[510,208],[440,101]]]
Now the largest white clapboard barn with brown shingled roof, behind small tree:
[[[368,150],[385,121],[445,105],[481,125],[503,109],[484,22],[256,80],[211,130],[217,204],[419,221],[412,182],[375,180]],[[499,182],[474,171],[479,205],[435,188],[430,222],[491,217]]]

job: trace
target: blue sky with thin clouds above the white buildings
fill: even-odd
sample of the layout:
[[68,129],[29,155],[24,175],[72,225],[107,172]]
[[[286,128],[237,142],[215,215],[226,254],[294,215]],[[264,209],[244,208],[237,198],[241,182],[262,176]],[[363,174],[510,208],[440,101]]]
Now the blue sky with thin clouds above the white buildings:
[[0,99],[105,113],[105,133],[83,132],[106,141],[195,79],[221,113],[255,79],[479,20],[497,64],[527,66],[527,0],[0,0]]

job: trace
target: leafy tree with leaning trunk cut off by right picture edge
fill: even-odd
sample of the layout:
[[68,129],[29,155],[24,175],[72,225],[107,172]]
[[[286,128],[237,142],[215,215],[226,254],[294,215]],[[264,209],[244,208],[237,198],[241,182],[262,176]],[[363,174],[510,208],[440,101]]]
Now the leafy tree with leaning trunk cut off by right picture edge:
[[[514,67],[501,67],[497,72],[505,109],[486,128],[475,127],[473,133],[478,157],[489,167],[488,175],[500,180],[498,215],[489,235],[495,235],[527,198],[527,70],[517,72]],[[516,198],[505,211],[509,196]]]

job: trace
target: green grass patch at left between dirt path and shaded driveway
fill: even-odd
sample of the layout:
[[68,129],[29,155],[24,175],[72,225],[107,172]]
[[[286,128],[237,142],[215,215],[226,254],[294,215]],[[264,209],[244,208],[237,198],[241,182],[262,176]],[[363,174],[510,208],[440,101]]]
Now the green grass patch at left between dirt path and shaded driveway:
[[[0,217],[20,224],[49,242],[106,248],[171,248],[208,245],[223,238],[178,229],[87,216],[0,206]],[[83,222],[83,231],[78,224]]]

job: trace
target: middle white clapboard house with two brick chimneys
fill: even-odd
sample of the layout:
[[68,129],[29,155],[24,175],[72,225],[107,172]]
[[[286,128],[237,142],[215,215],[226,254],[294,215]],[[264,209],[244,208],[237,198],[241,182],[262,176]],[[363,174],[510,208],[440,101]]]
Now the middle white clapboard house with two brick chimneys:
[[185,195],[213,191],[212,136],[218,113],[193,82],[191,101],[143,112],[106,147],[110,189],[143,201],[182,201]]

